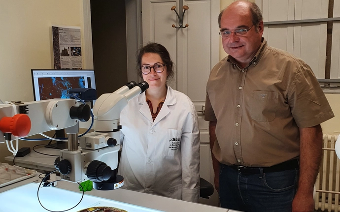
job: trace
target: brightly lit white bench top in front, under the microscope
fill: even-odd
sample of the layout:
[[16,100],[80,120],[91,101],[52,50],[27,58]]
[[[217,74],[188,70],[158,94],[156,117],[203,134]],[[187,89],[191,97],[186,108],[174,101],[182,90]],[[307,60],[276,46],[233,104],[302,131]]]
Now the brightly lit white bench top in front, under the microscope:
[[[7,190],[7,186],[0,188],[1,210],[46,212],[38,202],[38,184],[32,182],[33,180],[14,183]],[[81,193],[76,183],[60,181],[57,187],[40,188],[39,199],[46,209],[61,211],[75,206],[81,199]],[[13,204],[15,201],[18,204]],[[70,212],[76,212],[94,205],[128,209],[128,212],[235,212],[126,189],[87,191],[80,204]]]

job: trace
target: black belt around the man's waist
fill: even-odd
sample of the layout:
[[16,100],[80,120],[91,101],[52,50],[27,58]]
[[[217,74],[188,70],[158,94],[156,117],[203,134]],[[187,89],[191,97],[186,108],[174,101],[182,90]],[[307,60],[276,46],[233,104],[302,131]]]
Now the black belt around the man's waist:
[[251,175],[251,174],[259,174],[261,168],[263,170],[263,173],[299,169],[299,161],[297,159],[288,160],[286,162],[279,163],[277,165],[273,165],[270,167],[246,167],[246,166],[238,166],[238,165],[232,165],[228,167],[237,170],[240,174]]

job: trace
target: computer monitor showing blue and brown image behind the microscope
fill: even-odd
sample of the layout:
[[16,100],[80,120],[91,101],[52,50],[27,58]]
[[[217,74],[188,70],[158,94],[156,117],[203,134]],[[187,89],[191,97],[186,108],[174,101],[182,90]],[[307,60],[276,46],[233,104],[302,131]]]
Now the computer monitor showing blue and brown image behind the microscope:
[[[34,101],[69,98],[67,94],[75,88],[96,89],[94,70],[32,69],[32,82]],[[94,102],[91,102],[91,108]],[[56,137],[65,137],[64,130],[56,130]],[[68,148],[67,142],[57,142],[49,147]]]

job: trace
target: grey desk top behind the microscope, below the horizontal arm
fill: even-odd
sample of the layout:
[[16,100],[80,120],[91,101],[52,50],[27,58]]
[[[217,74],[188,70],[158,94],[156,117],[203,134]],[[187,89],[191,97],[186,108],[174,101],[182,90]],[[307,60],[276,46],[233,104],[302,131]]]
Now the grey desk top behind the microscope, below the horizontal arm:
[[[38,151],[44,154],[39,154],[35,151]],[[7,156],[5,157],[5,160],[13,162],[13,159],[14,159],[14,163],[17,166],[21,166],[21,167],[29,168],[29,169],[35,169],[39,171],[41,170],[41,171],[51,172],[56,169],[54,167],[54,161],[58,157],[60,150],[42,147],[42,148],[35,149],[35,151],[31,151],[29,154],[25,155],[24,157],[15,157],[15,159],[13,155]],[[55,155],[55,156],[49,156],[45,154]]]

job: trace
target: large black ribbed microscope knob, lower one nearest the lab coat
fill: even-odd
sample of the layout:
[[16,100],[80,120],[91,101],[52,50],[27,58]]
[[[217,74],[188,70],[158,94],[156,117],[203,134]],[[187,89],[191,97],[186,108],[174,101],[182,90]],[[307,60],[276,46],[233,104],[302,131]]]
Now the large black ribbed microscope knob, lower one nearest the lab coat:
[[87,178],[97,182],[107,181],[110,179],[111,173],[111,168],[99,160],[92,161],[86,169]]

